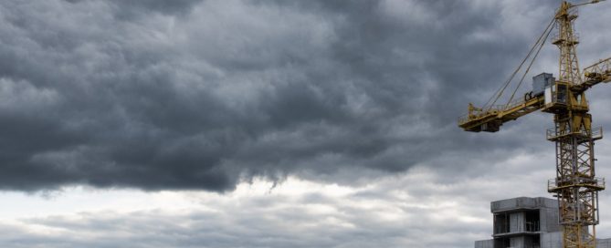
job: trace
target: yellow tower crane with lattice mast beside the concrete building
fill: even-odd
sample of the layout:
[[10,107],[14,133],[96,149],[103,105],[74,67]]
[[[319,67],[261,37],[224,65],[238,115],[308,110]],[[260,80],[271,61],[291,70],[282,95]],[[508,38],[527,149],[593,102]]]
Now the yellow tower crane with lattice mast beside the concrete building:
[[[496,132],[503,123],[539,109],[553,114],[554,127],[547,130],[546,136],[556,145],[556,176],[548,181],[548,191],[558,199],[564,247],[595,247],[595,225],[599,222],[598,191],[605,189],[605,179],[595,176],[594,158],[594,141],[603,138],[603,130],[592,128],[585,92],[596,84],[611,81],[611,57],[585,67],[582,74],[575,49],[579,41],[574,32],[577,6],[599,2],[601,0],[573,5],[563,1],[543,35],[504,86],[483,108],[469,104],[469,113],[458,119],[458,126],[467,131]],[[515,99],[517,89],[552,30],[557,30],[552,43],[560,49],[558,79],[546,73],[536,76],[533,90],[523,98]],[[529,59],[530,64],[525,67],[507,104],[495,105]]]

